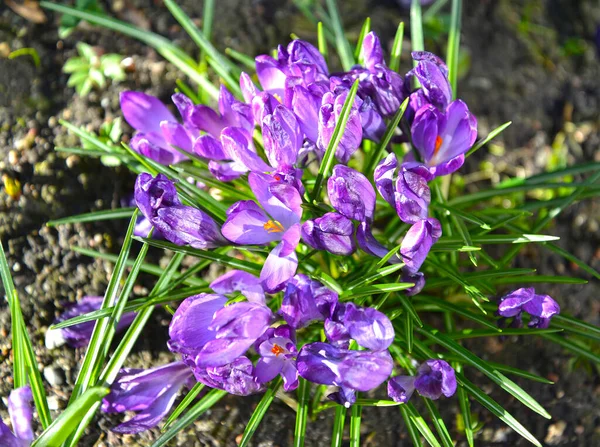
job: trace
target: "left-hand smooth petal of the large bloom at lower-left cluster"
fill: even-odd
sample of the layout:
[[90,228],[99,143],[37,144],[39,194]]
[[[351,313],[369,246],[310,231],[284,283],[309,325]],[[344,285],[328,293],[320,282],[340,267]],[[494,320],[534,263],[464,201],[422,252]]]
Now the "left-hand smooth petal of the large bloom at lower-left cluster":
[[216,337],[208,329],[214,314],[227,303],[222,295],[201,293],[186,298],[177,308],[169,325],[169,349],[180,354],[195,355]]

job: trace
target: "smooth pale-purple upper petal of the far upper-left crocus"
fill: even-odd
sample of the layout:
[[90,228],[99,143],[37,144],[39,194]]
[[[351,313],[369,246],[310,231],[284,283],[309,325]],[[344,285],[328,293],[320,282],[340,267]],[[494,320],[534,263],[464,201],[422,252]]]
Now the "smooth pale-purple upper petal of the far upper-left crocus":
[[177,122],[162,101],[142,92],[125,91],[120,96],[121,111],[131,127],[140,132],[157,132],[161,121]]

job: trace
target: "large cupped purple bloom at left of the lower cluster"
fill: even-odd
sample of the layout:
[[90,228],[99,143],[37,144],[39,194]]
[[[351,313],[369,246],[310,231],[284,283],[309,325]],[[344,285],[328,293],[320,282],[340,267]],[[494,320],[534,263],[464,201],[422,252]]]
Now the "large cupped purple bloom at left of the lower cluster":
[[224,366],[243,355],[267,330],[273,314],[264,304],[225,307],[226,302],[222,295],[206,293],[186,298],[169,325],[169,349],[200,369]]

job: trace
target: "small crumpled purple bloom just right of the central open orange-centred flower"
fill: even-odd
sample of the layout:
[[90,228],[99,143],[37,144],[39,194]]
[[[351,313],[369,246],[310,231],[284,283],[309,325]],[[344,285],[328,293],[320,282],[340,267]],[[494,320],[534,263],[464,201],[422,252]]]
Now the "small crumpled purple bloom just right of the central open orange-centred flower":
[[354,225],[338,213],[327,213],[302,224],[302,239],[316,250],[327,250],[334,255],[354,253]]

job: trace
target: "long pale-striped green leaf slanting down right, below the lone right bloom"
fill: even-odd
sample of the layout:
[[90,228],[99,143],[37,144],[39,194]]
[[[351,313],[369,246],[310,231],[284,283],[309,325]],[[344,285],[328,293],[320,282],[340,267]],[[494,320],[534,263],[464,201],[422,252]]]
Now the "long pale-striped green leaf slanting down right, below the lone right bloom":
[[[429,338],[430,340],[434,341],[438,345],[459,356],[461,358],[461,361],[479,369],[494,383],[499,385],[506,392],[510,393],[525,406],[531,408],[533,411],[544,416],[547,419],[551,418],[550,414],[533,397],[527,394],[521,387],[519,387],[516,383],[514,383],[504,374],[490,367],[487,364],[487,362],[474,355],[468,349],[463,348],[454,340],[450,339],[442,333],[434,333],[435,330],[427,325],[425,325],[422,329],[415,328],[415,330],[420,334],[424,335],[425,337]],[[546,335],[546,337],[550,337],[550,335]]]

